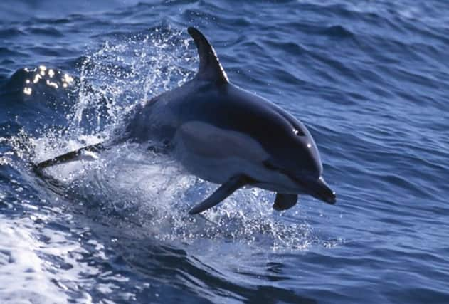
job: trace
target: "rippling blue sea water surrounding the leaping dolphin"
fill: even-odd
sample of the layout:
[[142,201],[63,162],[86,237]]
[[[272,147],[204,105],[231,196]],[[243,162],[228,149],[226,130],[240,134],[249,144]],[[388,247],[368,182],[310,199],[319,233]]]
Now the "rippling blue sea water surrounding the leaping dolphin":
[[[449,303],[447,1],[1,1],[0,303]],[[193,77],[188,26],[231,82],[302,120],[329,206],[278,213],[112,136]]]

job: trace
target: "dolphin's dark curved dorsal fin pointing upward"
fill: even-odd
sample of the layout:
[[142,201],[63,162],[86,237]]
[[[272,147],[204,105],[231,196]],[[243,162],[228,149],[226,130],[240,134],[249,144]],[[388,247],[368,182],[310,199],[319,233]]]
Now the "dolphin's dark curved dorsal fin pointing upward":
[[195,78],[201,80],[215,81],[217,84],[229,83],[228,76],[218,61],[217,54],[204,37],[196,28],[188,28],[191,38],[194,38],[196,48],[199,54],[199,70]]

